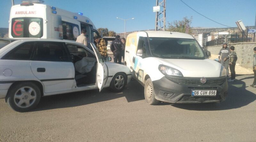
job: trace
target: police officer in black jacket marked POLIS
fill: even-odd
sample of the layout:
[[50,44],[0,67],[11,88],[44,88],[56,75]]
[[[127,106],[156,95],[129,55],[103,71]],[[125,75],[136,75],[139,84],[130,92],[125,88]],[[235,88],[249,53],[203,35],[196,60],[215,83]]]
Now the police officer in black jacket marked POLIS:
[[122,60],[122,42],[120,41],[120,36],[117,35],[116,39],[112,41],[110,45],[110,49],[113,52],[114,55],[114,62],[118,64],[121,64]]

